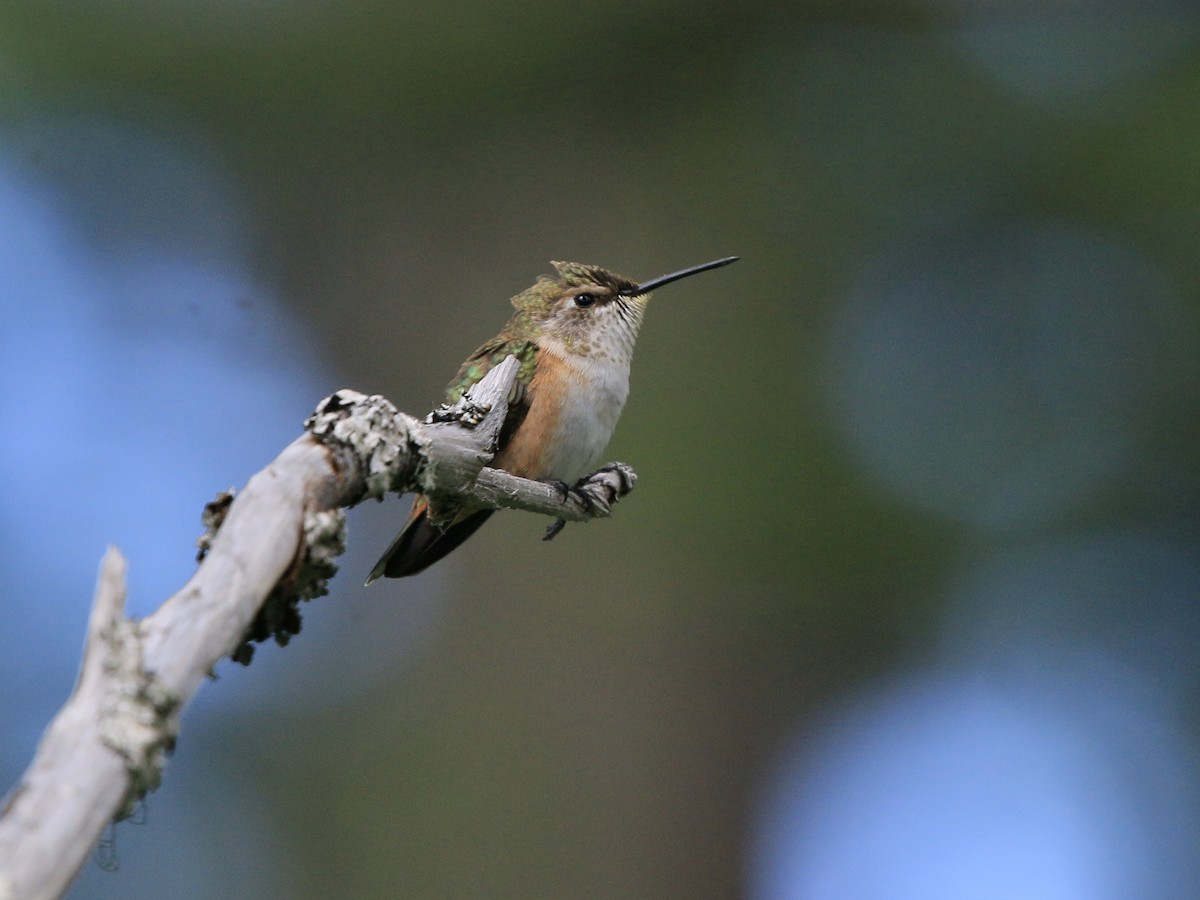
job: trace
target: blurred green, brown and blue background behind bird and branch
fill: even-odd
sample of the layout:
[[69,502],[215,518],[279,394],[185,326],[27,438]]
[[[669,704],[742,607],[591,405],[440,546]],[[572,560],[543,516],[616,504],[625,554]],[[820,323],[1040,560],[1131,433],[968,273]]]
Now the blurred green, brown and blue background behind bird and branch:
[[0,775],[96,565],[554,259],[652,304],[613,521],[222,665],[74,898],[1195,896],[1192,4],[0,8]]

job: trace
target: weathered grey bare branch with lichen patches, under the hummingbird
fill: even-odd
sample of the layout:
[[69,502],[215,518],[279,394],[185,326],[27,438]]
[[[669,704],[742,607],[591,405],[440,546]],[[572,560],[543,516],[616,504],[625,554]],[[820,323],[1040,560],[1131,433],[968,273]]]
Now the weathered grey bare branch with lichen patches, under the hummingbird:
[[325,593],[344,542],[342,508],[421,491],[556,518],[606,516],[635,481],[619,463],[564,492],[485,468],[516,377],[509,358],[425,422],[379,396],[325,398],[235,497],[210,504],[196,574],[154,614],[125,616],[125,560],[101,565],[79,678],[0,808],[0,900],[60,896],[104,826],[157,787],[179,716],[214,666],[247,640],[299,630],[295,606]]

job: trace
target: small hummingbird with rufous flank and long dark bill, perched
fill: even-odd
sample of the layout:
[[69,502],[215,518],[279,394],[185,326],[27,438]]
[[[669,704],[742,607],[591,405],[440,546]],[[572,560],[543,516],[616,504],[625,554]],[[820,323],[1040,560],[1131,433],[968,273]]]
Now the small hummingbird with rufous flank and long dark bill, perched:
[[[557,275],[540,276],[512,298],[512,318],[462,364],[446,388],[446,402],[456,403],[488,370],[516,356],[520,367],[491,464],[565,490],[592,472],[617,427],[649,293],[737,260],[714,259],[641,283],[598,265],[551,262]],[[493,511],[440,510],[418,494],[407,524],[366,583],[425,570],[473,535]],[[556,526],[547,538],[553,534]]]

